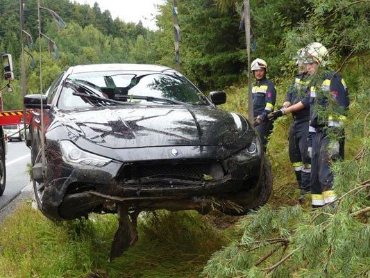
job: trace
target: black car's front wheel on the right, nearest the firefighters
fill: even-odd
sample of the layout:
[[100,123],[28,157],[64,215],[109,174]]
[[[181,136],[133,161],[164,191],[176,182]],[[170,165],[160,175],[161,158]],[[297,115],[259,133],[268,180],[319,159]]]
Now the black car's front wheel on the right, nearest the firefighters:
[[269,159],[264,154],[262,158],[262,176],[260,184],[256,186],[257,192],[249,191],[246,193],[236,193],[228,195],[227,199],[235,206],[225,206],[221,211],[228,215],[241,216],[246,215],[251,210],[257,210],[269,200],[272,190],[272,173]]

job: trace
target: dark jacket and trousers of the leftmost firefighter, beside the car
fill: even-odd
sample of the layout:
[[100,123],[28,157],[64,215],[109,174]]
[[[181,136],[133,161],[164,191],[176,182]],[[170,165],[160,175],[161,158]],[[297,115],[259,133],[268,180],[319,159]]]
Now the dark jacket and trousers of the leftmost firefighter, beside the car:
[[266,151],[269,135],[273,129],[272,122],[267,119],[267,114],[274,111],[276,90],[274,83],[264,78],[255,82],[252,88],[253,117],[262,118],[262,123],[255,127],[260,135],[262,146]]

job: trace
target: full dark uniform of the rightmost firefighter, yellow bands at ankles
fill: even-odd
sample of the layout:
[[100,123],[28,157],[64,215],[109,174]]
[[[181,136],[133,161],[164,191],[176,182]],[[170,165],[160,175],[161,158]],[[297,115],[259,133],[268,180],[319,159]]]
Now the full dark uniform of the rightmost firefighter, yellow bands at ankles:
[[[310,97],[302,103],[310,107],[312,207],[319,207],[336,199],[330,165],[344,158],[342,126],[349,106],[346,83],[339,74],[325,74],[318,85],[310,87]],[[330,140],[330,133],[335,133],[335,140]]]

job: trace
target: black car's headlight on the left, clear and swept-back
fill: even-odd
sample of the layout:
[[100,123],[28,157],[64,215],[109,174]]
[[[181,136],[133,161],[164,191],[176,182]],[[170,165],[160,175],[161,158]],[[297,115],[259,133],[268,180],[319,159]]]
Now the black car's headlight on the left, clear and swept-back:
[[60,149],[62,149],[62,158],[67,163],[101,167],[112,161],[112,159],[85,152],[74,145],[74,143],[67,140],[60,141]]

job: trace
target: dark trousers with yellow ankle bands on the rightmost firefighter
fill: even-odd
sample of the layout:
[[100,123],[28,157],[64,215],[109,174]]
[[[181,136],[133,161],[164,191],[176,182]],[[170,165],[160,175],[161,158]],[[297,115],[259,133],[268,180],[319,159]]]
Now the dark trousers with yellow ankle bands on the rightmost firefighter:
[[312,207],[319,207],[335,201],[333,172],[330,166],[337,159],[344,158],[344,137],[338,141],[339,152],[330,154],[330,138],[323,131],[312,133],[311,193]]

